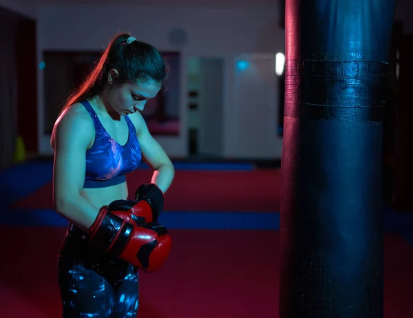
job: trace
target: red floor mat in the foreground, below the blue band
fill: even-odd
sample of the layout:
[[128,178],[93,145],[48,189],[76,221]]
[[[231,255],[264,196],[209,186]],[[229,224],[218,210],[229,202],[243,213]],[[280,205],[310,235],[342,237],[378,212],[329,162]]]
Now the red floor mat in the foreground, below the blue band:
[[[0,262],[1,317],[61,317],[56,253],[63,231],[0,228],[7,255]],[[171,230],[171,235],[165,268],[140,275],[139,318],[278,317],[278,232]],[[253,262],[245,258],[248,249],[255,250]],[[412,286],[413,248],[387,235],[385,318],[411,316]]]

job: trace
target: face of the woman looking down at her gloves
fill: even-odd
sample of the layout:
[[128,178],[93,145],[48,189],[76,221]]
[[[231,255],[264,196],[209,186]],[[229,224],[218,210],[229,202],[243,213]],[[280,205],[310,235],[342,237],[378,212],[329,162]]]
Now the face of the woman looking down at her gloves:
[[119,115],[129,115],[142,112],[147,100],[156,97],[160,88],[160,84],[153,81],[112,85],[107,99]]

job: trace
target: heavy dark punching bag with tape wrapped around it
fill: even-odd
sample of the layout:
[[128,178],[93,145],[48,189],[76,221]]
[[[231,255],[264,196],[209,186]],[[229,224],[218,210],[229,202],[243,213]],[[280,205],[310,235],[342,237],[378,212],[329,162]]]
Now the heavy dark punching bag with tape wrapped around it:
[[280,318],[383,317],[394,0],[286,0]]

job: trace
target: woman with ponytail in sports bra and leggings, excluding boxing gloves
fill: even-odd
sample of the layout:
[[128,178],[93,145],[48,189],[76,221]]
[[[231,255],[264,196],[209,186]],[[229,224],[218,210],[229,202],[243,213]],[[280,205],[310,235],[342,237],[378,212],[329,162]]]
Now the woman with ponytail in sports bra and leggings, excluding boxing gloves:
[[54,125],[54,206],[70,221],[59,255],[63,317],[136,317],[135,266],[89,243],[100,208],[127,199],[125,174],[144,159],[166,192],[173,165],[140,112],[156,97],[167,66],[153,46],[115,37],[67,100]]

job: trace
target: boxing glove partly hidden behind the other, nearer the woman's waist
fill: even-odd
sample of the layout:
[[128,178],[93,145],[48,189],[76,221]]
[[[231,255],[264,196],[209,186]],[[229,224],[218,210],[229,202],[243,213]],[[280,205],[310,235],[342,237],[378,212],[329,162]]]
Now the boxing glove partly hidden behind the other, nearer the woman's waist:
[[[127,218],[127,221],[143,224],[157,222],[164,204],[162,190],[156,184],[142,184],[136,190],[136,201],[116,200],[109,204],[109,211],[116,211]],[[122,213],[123,212],[123,213]]]

